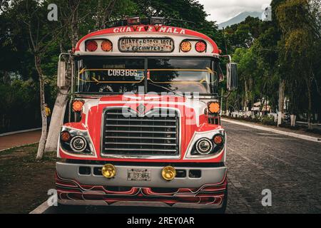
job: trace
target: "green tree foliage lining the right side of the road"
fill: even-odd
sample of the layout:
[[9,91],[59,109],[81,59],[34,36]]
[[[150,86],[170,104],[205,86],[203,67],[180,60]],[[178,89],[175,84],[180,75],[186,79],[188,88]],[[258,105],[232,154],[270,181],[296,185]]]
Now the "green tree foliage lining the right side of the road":
[[321,115],[321,3],[273,0],[271,6],[272,21],[248,18],[225,29],[239,64],[239,88],[229,103],[251,108],[251,101],[267,97],[276,112],[284,80],[290,113]]

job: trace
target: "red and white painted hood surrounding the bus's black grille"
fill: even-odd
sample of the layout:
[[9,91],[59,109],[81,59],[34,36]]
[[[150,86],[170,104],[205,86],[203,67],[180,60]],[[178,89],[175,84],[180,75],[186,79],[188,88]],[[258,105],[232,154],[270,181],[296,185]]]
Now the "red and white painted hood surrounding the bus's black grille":
[[[197,132],[207,132],[210,130],[221,129],[220,125],[208,124],[208,118],[204,114],[206,103],[200,100],[191,100],[183,96],[177,95],[110,95],[96,99],[85,99],[83,105],[83,113],[81,123],[69,123],[65,126],[77,128],[80,130],[88,130],[96,150],[97,160],[119,160],[116,158],[106,159],[100,156],[101,150],[101,126],[103,120],[103,110],[108,107],[128,107],[137,111],[138,106],[145,107],[145,113],[149,110],[157,108],[175,109],[180,116],[180,160],[165,160],[167,162],[190,162],[191,160],[183,160],[185,152],[188,149],[190,140]],[[66,157],[66,156],[61,156]],[[70,157],[68,157],[70,158]],[[216,161],[221,160],[218,157]],[[121,159],[126,161],[146,161],[142,159]],[[148,160],[155,162],[164,162],[164,160]],[[198,162],[200,162],[198,160]],[[207,162],[209,162],[207,160]]]

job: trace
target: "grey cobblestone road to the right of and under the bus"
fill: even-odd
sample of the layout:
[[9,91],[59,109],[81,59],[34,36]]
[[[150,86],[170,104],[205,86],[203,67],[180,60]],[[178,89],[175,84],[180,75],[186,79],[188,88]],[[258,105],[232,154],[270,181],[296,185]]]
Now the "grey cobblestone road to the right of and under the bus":
[[[321,213],[321,143],[223,122],[228,133],[227,213]],[[262,190],[272,191],[263,207]],[[188,213],[195,210],[51,207],[46,212]]]

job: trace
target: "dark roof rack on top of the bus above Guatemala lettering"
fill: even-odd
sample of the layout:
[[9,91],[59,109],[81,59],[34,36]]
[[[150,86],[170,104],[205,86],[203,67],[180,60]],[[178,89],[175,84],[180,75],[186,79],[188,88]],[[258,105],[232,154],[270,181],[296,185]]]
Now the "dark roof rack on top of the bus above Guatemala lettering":
[[[131,19],[131,18],[128,18]],[[118,21],[108,21],[105,24],[105,28],[113,28],[118,26],[128,26],[132,25],[128,23],[128,19],[118,20]],[[139,19],[139,24],[142,25],[151,25],[155,24],[153,23],[153,19],[161,19],[163,21],[162,25],[165,26],[175,26],[175,27],[182,27],[182,28],[195,28],[195,22],[193,21],[184,21],[184,20],[178,20],[178,19],[163,19],[159,17],[151,17],[151,18],[145,18],[140,19],[139,17],[134,17],[133,19]]]

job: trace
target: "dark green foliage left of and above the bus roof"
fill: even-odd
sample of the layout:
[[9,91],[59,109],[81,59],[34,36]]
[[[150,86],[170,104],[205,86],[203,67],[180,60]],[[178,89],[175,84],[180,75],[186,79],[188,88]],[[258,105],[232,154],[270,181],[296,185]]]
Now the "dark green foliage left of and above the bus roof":
[[[219,46],[223,36],[196,0],[12,0],[0,8],[0,131],[31,128],[40,124],[39,75],[34,54],[41,53],[46,103],[52,108],[56,98],[56,68],[59,53],[76,45],[89,31],[103,26],[103,16],[110,11],[110,20],[126,16],[164,16],[167,19],[193,21],[193,28],[213,38]],[[48,4],[58,6],[58,22],[48,21]],[[76,6],[76,11],[74,11]],[[76,19],[73,23],[73,18]],[[30,26],[29,26],[30,25]],[[31,42],[31,36],[38,46]],[[24,116],[21,117],[21,110]]]

